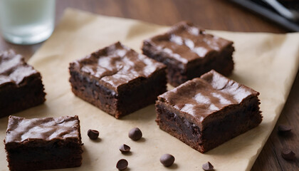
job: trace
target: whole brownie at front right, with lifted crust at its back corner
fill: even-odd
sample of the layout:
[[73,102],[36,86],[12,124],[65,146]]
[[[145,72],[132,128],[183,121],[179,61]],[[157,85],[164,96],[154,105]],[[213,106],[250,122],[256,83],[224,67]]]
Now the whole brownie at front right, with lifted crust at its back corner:
[[159,128],[207,152],[262,121],[259,93],[216,71],[159,95]]

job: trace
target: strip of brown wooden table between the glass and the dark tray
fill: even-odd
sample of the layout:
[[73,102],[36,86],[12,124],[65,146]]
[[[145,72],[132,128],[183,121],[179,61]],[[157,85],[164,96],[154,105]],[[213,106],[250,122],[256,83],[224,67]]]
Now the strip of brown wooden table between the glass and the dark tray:
[[[263,4],[262,0],[255,1]],[[297,4],[298,6],[299,1],[285,0],[284,4],[286,6]],[[107,16],[140,19],[162,25],[172,25],[178,21],[189,20],[204,28],[216,30],[272,33],[290,31],[230,0],[63,0],[57,3],[57,17],[61,16],[66,7]]]

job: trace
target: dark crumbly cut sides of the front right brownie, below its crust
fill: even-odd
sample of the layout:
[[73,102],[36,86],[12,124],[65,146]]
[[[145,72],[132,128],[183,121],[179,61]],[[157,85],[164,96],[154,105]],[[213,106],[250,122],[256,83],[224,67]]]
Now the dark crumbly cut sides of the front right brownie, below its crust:
[[162,130],[204,153],[258,126],[261,123],[258,104],[258,98],[253,96],[240,105],[221,110],[216,115],[226,115],[226,118],[214,120],[201,130],[199,126],[169,110],[171,106],[158,101],[156,122]]

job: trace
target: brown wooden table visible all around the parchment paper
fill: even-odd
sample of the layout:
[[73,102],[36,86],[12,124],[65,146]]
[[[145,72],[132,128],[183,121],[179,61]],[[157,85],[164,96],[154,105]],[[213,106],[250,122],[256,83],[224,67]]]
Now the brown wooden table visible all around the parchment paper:
[[[288,31],[223,0],[64,0],[56,2],[56,23],[67,7],[90,11],[95,14],[118,16],[148,21],[154,24],[172,25],[182,20],[192,21],[203,28],[225,31],[287,33]],[[0,51],[12,48],[23,54],[26,60],[42,45],[19,46],[0,38]],[[295,78],[283,112],[277,125],[290,125],[293,134],[281,137],[277,125],[263,147],[252,170],[299,170],[299,74]],[[280,151],[289,147],[297,153],[297,159],[284,160]]]

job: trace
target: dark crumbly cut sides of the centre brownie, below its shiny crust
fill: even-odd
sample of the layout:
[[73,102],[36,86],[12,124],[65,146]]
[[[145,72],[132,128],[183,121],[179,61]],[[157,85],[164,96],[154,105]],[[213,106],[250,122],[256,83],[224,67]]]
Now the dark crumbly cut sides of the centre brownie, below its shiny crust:
[[166,71],[157,71],[150,78],[138,78],[115,93],[98,83],[97,79],[83,76],[70,67],[70,83],[75,95],[120,118],[154,103],[166,91]]

